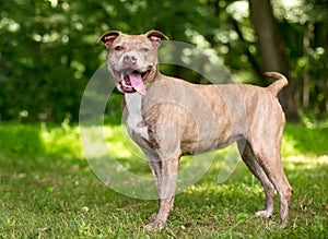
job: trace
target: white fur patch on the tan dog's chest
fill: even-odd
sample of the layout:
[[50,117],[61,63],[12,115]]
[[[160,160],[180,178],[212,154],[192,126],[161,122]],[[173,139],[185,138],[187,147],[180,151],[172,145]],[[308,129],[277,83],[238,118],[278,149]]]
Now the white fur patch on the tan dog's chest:
[[132,131],[149,141],[148,127],[143,124],[141,106],[142,96],[139,93],[125,94],[126,107],[129,112],[126,127],[130,135]]

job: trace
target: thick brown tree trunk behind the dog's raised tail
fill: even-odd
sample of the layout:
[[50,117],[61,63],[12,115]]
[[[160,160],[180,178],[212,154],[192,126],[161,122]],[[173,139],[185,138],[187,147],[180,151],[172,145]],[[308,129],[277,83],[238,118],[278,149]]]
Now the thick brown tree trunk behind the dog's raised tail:
[[[250,19],[258,37],[263,71],[278,71],[289,79],[289,86],[279,94],[288,120],[297,120],[296,84],[290,75],[290,65],[283,39],[273,17],[270,0],[248,0]],[[267,82],[268,83],[268,82]]]

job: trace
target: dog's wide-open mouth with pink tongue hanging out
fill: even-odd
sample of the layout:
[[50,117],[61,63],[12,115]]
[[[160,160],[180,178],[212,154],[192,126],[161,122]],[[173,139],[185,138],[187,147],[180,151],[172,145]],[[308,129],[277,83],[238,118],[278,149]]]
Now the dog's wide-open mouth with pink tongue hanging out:
[[120,85],[120,89],[125,93],[138,92],[141,95],[145,95],[145,85],[143,81],[149,76],[151,70],[140,72],[131,68],[122,71],[114,71],[115,79]]

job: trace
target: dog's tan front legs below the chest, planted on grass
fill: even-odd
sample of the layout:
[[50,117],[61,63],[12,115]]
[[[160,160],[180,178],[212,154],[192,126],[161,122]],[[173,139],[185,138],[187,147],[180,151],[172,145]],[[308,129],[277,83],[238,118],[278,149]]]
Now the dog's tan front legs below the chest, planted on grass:
[[160,199],[159,212],[151,215],[151,223],[145,226],[148,230],[163,229],[169,213],[173,210],[175,189],[177,183],[179,155],[168,159],[160,157],[149,158]]

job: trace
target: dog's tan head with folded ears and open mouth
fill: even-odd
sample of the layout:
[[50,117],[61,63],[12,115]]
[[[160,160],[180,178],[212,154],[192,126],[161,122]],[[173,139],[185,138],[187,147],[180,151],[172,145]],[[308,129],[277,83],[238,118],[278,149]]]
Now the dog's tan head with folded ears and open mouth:
[[108,50],[107,67],[122,93],[147,93],[147,84],[157,72],[157,48],[167,37],[157,31],[142,35],[127,35],[117,31],[105,33],[103,41]]

